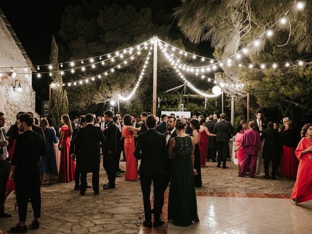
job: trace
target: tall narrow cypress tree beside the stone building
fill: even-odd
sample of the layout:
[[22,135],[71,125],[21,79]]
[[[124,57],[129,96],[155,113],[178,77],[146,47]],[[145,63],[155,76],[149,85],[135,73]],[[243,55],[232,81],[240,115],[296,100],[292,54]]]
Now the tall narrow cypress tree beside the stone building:
[[59,48],[54,39],[52,38],[50,64],[52,65],[51,83],[55,84],[51,87],[51,116],[54,121],[54,126],[58,129],[60,127],[60,117],[68,114],[68,98],[66,90],[63,89],[62,76],[59,72]]

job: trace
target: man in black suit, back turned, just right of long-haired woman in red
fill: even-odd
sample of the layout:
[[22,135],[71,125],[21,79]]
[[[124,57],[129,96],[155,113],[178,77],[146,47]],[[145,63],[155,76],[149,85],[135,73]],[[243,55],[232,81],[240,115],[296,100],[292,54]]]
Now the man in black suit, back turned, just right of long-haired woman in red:
[[106,138],[100,127],[94,126],[94,117],[85,116],[86,126],[79,128],[73,143],[79,147],[78,170],[80,172],[80,195],[85,195],[87,189],[87,173],[92,172],[92,189],[95,195],[99,190],[100,144],[105,144]]

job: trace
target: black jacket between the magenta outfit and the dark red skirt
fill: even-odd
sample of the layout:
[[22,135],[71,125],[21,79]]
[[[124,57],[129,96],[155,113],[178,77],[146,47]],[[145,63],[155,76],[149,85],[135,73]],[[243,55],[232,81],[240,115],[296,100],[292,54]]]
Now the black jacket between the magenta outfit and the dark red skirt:
[[264,139],[262,158],[264,160],[280,160],[279,133],[277,129],[263,129],[261,140]]

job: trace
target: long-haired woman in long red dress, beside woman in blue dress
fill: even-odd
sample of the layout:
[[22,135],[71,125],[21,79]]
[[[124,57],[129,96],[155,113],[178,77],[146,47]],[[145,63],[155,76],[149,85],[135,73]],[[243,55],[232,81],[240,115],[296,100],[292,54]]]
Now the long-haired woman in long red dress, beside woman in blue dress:
[[70,156],[70,137],[73,129],[68,115],[60,118],[63,126],[60,128],[59,150],[59,182],[70,182],[75,179],[75,161]]

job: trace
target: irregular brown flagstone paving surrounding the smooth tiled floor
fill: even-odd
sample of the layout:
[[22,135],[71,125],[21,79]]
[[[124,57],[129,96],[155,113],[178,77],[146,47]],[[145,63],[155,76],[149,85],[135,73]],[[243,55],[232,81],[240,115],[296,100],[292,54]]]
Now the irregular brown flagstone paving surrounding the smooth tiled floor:
[[[125,163],[120,163],[125,169]],[[290,195],[293,180],[263,178],[241,178],[237,176],[237,167],[228,162],[229,169],[220,169],[215,163],[207,163],[202,169],[203,187],[196,189],[198,193],[257,193]],[[91,184],[91,175],[88,176]],[[107,182],[103,169],[100,172],[100,187]],[[136,234],[140,231],[143,220],[143,202],[139,181],[125,181],[124,175],[117,178],[117,187],[113,190],[100,190],[93,195],[88,189],[85,196],[74,191],[74,182],[45,185],[41,189],[42,213],[40,229],[29,230],[38,234]],[[6,202],[6,212],[12,218],[0,219],[0,229],[8,231],[18,222],[18,213],[14,211],[15,197],[10,195]],[[32,221],[32,210],[29,205],[27,224]]]

